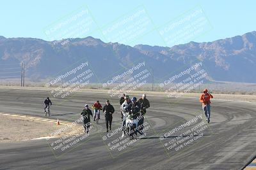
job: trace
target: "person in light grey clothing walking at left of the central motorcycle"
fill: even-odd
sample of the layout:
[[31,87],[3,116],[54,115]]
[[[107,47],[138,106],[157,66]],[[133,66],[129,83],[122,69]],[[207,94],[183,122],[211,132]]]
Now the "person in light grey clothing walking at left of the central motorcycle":
[[122,120],[122,126],[121,126],[122,131],[123,131],[122,132],[122,138],[124,138],[124,135],[125,135],[124,134],[124,132],[125,132],[125,123],[126,123],[125,119],[126,119],[127,115],[130,113],[131,106],[132,106],[131,100],[130,100],[128,95],[126,95],[124,97],[124,99],[125,99],[125,101],[121,106],[121,111],[122,111],[122,114],[123,114],[123,120]]

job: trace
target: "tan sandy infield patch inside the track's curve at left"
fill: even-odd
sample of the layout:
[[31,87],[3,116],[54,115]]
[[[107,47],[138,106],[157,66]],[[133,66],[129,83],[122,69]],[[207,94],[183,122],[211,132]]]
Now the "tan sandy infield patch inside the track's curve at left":
[[50,136],[52,132],[61,127],[63,126],[51,122],[28,120],[26,118],[10,117],[0,114],[0,143]]

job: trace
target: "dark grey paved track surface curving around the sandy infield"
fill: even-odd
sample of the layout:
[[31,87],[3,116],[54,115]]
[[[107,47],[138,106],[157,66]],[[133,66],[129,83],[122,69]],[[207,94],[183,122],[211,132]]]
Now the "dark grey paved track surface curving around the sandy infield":
[[[44,90],[0,89],[0,112],[41,117],[42,101],[47,96],[49,92]],[[103,104],[107,98],[116,109],[112,130],[116,129],[121,124],[118,98],[103,93],[79,92],[65,100],[53,98],[52,118],[74,121],[80,117],[85,103],[92,105],[99,99]],[[189,98],[147,98],[151,106],[145,122],[150,128],[144,138],[124,152],[109,151],[102,140],[106,135],[102,116],[99,125],[93,124],[88,140],[69,152],[54,155],[48,143],[56,139],[1,143],[0,169],[242,169],[256,155],[255,103],[213,100],[211,124],[201,138],[180,150],[168,151],[164,143],[177,138],[178,133],[166,136],[163,141],[159,136],[200,115],[200,103]],[[200,123],[206,125],[204,117],[180,133]]]

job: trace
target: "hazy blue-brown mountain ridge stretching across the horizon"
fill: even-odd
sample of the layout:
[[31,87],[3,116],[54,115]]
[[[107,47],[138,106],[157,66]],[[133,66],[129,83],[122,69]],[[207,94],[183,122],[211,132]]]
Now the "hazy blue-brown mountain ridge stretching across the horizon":
[[[212,80],[256,83],[256,31],[212,42],[190,42],[172,47],[104,43],[93,37],[65,39],[67,44],[36,38],[0,36],[0,66],[24,62],[26,76],[38,81],[55,75],[83,57],[88,59],[99,79],[106,70],[115,73],[145,60],[156,77],[202,60]],[[63,40],[64,41],[64,40]],[[100,66],[100,67],[99,67]],[[1,73],[1,71],[0,71]]]

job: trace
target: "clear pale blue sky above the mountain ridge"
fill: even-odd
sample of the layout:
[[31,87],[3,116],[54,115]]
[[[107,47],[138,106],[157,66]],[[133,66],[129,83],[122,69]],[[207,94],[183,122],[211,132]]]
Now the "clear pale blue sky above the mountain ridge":
[[[216,39],[241,35],[246,32],[256,31],[256,1],[65,1],[65,0],[23,0],[1,1],[0,19],[1,36],[6,38],[30,37],[50,40],[45,35],[45,27],[51,23],[58,23],[60,18],[67,16],[72,11],[77,11],[81,6],[86,5],[97,27],[104,29],[104,25],[115,23],[116,18],[122,18],[125,13],[132,13],[134,8],[147,10],[147,17],[150,18],[148,29],[160,27],[177,18],[185,16],[182,13],[200,6],[204,10],[202,16],[207,17],[205,28],[208,30],[197,38],[188,38],[186,41],[214,41]],[[93,29],[95,27],[93,26]],[[137,32],[137,31],[136,31]],[[88,34],[86,35],[88,36]],[[100,38],[103,41],[111,40],[112,35],[104,37],[102,32],[94,31],[90,36]],[[168,36],[168,35],[164,35]],[[81,35],[81,37],[83,37]],[[110,41],[109,40],[109,41]],[[134,40],[134,39],[133,39]],[[148,45],[172,45],[166,43],[163,37],[160,38],[156,30],[148,33],[136,41],[125,41],[128,45],[138,43]],[[184,43],[186,43],[184,41]],[[122,42],[121,42],[122,43]]]

